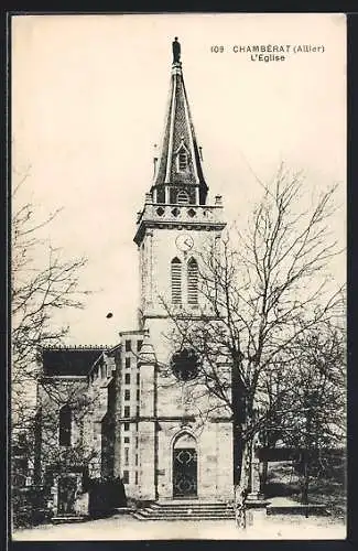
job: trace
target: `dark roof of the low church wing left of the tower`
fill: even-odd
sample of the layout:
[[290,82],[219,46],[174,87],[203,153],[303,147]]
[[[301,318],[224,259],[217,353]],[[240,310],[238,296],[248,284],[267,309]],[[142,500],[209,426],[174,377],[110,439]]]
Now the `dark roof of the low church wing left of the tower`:
[[56,347],[42,350],[45,377],[86,376],[107,346]]

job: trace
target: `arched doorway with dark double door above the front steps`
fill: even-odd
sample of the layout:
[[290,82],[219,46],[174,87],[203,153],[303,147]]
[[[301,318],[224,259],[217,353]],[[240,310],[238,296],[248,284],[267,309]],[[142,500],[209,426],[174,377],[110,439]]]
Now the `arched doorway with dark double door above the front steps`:
[[187,432],[181,434],[173,445],[173,497],[197,496],[196,441]]

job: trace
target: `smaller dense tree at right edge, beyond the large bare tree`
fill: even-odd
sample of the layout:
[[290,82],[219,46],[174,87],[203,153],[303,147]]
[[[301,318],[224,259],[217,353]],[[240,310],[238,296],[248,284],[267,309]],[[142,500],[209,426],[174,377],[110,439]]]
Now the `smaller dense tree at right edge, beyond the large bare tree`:
[[311,479],[325,474],[333,449],[341,452],[345,444],[345,348],[343,327],[326,323],[289,352],[294,369],[284,377],[279,426],[283,442],[301,450],[303,504]]

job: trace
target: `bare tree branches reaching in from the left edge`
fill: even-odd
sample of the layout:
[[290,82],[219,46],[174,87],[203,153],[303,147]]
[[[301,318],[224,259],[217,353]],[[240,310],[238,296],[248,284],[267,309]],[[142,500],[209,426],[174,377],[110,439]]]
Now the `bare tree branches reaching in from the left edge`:
[[36,223],[34,207],[22,203],[14,186],[11,220],[11,348],[12,429],[28,430],[33,422],[39,349],[57,345],[68,326],[54,323],[59,309],[83,307],[87,291],[79,288],[85,258],[66,260],[59,249],[41,238],[58,210]]

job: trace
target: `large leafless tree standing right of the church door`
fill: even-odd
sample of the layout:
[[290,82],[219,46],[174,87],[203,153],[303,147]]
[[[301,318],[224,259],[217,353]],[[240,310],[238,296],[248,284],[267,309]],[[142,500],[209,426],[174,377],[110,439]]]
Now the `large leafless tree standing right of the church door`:
[[[254,440],[272,423],[273,412],[280,408],[285,414],[285,381],[280,379],[297,369],[295,348],[343,311],[343,289],[335,288],[326,270],[339,253],[329,230],[335,187],[311,208],[300,208],[303,183],[300,174],[281,166],[274,181],[263,185],[247,229],[198,253],[198,316],[165,304],[175,346],[193,348],[202,358],[193,388],[232,413],[239,523],[245,523]],[[269,402],[268,383],[279,380]]]

